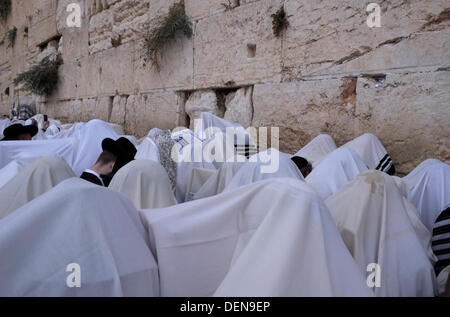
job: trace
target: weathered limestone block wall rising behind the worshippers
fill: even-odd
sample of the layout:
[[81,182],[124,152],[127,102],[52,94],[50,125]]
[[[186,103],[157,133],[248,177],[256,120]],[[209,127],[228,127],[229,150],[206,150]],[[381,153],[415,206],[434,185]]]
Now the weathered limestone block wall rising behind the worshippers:
[[[66,25],[73,2],[81,28]],[[450,162],[448,0],[185,0],[194,35],[165,47],[156,69],[144,35],[175,2],[13,0],[0,24],[0,34],[18,29],[13,48],[0,45],[0,114],[21,93],[15,76],[56,50],[58,90],[36,101],[63,121],[100,118],[143,136],[206,110],[280,127],[287,152],[322,132],[338,144],[372,132],[400,172],[428,157]],[[370,2],[381,28],[366,25]],[[277,38],[281,6],[289,26]]]

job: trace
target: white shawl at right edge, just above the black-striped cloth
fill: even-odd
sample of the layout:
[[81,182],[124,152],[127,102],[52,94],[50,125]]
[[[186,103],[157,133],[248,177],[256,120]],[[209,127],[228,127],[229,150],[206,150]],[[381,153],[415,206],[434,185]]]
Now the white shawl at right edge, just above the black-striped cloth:
[[424,225],[432,231],[437,217],[450,206],[450,165],[442,162],[429,165],[416,180],[411,202]]

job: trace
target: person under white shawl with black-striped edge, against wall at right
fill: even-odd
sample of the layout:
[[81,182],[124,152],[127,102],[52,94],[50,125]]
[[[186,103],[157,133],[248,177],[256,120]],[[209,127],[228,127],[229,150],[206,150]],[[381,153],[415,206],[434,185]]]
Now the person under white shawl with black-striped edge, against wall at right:
[[369,169],[395,175],[395,166],[380,140],[373,134],[366,133],[344,144],[361,157]]

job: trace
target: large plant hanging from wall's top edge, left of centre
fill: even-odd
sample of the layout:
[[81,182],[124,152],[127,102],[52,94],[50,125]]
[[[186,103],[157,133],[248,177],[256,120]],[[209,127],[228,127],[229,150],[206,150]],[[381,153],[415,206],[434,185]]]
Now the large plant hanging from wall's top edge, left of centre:
[[163,48],[173,41],[177,33],[192,37],[192,22],[186,15],[184,1],[172,5],[169,14],[145,37],[147,58],[159,69],[158,58],[163,56]]

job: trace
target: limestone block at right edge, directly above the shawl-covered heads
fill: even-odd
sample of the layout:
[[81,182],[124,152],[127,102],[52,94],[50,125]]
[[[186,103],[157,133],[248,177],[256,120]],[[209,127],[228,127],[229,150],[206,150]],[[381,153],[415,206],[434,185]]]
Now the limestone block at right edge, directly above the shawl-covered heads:
[[357,134],[377,135],[402,173],[433,157],[450,163],[450,72],[361,78]]

